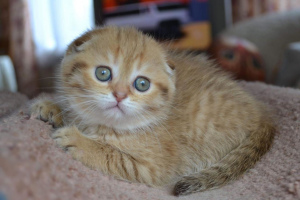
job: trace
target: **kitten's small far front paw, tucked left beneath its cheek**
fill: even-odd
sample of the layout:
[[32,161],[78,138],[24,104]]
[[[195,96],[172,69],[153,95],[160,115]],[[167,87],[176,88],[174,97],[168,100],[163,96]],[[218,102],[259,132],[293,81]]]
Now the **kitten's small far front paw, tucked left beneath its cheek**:
[[38,100],[31,105],[31,115],[44,122],[49,122],[53,127],[63,126],[61,109],[58,105],[48,100]]

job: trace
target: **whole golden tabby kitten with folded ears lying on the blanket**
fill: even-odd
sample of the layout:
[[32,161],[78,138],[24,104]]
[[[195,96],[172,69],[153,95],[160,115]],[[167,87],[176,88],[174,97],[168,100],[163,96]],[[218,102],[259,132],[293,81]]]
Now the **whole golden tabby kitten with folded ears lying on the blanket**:
[[103,27],[70,44],[60,100],[32,113],[93,169],[133,182],[176,183],[175,195],[218,188],[267,152],[264,106],[203,56],[171,52],[134,28]]

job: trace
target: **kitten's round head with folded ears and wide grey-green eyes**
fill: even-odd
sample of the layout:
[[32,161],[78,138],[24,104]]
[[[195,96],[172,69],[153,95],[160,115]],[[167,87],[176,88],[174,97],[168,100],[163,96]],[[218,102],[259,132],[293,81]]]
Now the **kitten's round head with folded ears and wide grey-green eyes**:
[[134,28],[85,33],[68,47],[60,76],[66,101],[85,123],[119,130],[161,123],[175,93],[163,48]]

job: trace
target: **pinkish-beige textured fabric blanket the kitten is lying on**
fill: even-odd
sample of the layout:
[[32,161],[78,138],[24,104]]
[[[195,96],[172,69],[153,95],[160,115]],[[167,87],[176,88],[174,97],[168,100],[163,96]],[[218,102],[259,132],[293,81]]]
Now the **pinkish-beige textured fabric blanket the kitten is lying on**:
[[118,181],[83,166],[55,147],[50,125],[26,114],[25,97],[0,93],[0,199],[300,199],[300,90],[241,85],[277,116],[271,150],[239,180],[179,198],[171,187]]

